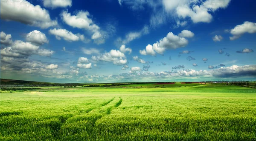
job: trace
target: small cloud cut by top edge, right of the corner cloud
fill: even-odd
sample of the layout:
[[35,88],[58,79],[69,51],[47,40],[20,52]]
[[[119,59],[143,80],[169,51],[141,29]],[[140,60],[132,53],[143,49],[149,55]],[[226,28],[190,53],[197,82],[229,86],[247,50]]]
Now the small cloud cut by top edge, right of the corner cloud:
[[61,7],[65,8],[67,6],[72,6],[72,0],[43,0],[44,7],[50,7],[52,9]]

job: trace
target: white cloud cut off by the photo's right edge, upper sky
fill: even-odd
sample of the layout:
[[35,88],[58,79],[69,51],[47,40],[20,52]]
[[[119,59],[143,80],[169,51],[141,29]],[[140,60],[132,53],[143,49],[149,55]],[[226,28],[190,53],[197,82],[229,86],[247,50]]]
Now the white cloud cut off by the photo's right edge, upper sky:
[[230,37],[230,40],[238,39],[245,33],[256,33],[256,23],[246,21],[241,25],[236,25],[235,28],[230,30],[230,33],[233,35],[233,37]]

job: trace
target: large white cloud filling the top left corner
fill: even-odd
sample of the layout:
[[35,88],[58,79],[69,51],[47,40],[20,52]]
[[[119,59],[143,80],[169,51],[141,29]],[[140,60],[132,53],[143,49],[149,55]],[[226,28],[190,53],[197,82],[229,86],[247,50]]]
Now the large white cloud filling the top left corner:
[[49,12],[39,5],[34,6],[26,0],[1,0],[0,14],[3,20],[49,28],[57,25],[57,20],[51,20]]

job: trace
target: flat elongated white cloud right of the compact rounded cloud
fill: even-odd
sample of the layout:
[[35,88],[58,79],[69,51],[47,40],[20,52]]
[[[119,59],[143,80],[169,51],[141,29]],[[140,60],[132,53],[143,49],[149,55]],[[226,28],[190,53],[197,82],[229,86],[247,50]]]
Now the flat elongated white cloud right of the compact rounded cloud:
[[56,39],[60,40],[61,37],[66,41],[79,41],[84,40],[84,35],[81,34],[73,34],[71,31],[67,31],[66,29],[50,29],[49,34],[55,35]]

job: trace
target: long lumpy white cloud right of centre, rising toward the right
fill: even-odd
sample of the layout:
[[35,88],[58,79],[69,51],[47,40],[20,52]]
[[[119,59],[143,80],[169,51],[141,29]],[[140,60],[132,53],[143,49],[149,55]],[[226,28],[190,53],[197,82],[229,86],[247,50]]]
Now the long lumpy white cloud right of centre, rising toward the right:
[[155,52],[158,54],[163,54],[166,49],[176,49],[188,45],[188,40],[183,37],[178,37],[172,32],[169,32],[166,37],[160,39],[152,45],[147,45],[144,50],[140,50],[142,55],[152,55],[155,56]]

